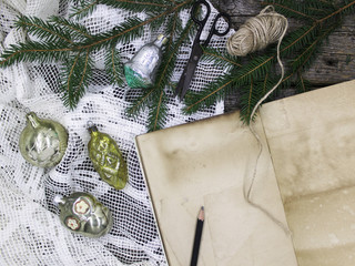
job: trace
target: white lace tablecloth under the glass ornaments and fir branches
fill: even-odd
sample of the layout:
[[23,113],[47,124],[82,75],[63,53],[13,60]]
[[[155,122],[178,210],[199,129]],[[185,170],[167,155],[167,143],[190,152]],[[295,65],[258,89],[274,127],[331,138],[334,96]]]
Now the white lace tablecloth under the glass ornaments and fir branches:
[[[68,2],[59,0],[0,1],[0,52],[12,43],[31,38],[13,27],[17,16],[45,19],[57,14],[68,18]],[[81,22],[95,34],[112,29],[129,16],[132,14],[99,4]],[[144,18],[143,13],[139,16]],[[186,22],[189,13],[181,16]],[[158,34],[146,29],[143,38],[132,43],[120,43],[118,48],[122,50],[122,58],[130,59]],[[224,45],[225,40],[214,40],[212,45]],[[173,81],[179,80],[191,45],[183,49],[187,53],[181,53]],[[126,119],[128,86],[113,86],[108,82],[100,52],[95,62],[90,88],[73,111],[62,103],[58,64],[19,63],[0,70],[0,265],[166,264],[134,147],[134,136],[146,131],[148,112],[136,120]],[[192,84],[194,90],[225,71],[203,62],[199,68],[201,79]],[[169,108],[166,126],[223,112],[221,103],[185,116],[175,99],[171,99]],[[39,117],[60,122],[68,130],[68,150],[61,163],[53,168],[32,166],[20,154],[18,141],[29,110]],[[111,135],[123,152],[129,165],[129,183],[124,190],[115,191],[93,170],[87,145],[90,140],[88,121]],[[52,200],[55,194],[69,195],[72,192],[88,192],[111,209],[114,221],[108,235],[87,238],[61,226],[59,209]]]

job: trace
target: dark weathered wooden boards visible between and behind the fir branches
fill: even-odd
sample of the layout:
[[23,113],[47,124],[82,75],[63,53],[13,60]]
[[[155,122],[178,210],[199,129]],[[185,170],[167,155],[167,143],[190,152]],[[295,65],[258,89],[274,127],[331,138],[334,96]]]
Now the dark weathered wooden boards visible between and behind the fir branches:
[[[233,28],[237,28],[251,17],[255,17],[263,9],[257,0],[211,0],[219,10],[232,17]],[[288,31],[300,27],[300,22],[290,20]],[[323,43],[316,60],[304,73],[313,88],[322,88],[343,81],[355,79],[355,16],[347,16],[342,27],[336,29]],[[294,94],[293,88],[284,92],[284,96]],[[239,108],[239,95],[231,95],[225,100],[225,111]]]

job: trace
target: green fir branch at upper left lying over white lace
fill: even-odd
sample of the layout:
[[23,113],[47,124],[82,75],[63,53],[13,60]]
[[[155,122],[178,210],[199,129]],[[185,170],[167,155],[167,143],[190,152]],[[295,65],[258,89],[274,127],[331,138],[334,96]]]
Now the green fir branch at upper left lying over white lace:
[[[113,8],[132,10],[134,12],[145,11],[148,18],[141,20],[130,17],[114,29],[100,34],[92,35],[82,24],[65,20],[60,17],[51,17],[48,21],[39,18],[21,17],[18,27],[41,39],[41,41],[28,41],[18,45],[12,45],[1,54],[0,66],[6,68],[19,62],[65,62],[68,65],[61,69],[61,89],[63,91],[63,102],[71,109],[75,108],[80,98],[84,94],[89,85],[92,69],[92,53],[98,50],[105,52],[105,70],[112,83],[121,84],[123,78],[120,52],[115,50],[119,42],[129,43],[140,38],[144,32],[144,27],[161,27],[168,24],[174,18],[172,28],[168,27],[171,39],[174,41],[179,32],[182,31],[182,23],[179,12],[190,8],[193,0],[166,1],[166,0],[101,0],[101,1],[77,1],[77,7],[72,9],[71,17],[82,19],[95,10],[98,3],[105,3]],[[85,54],[85,55],[83,55]],[[79,73],[80,68],[84,71]],[[171,76],[172,68],[168,69],[166,76]],[[161,82],[168,84],[166,80]],[[144,104],[148,95],[136,99]],[[150,94],[149,94],[150,95]],[[149,98],[150,99],[150,98]],[[151,104],[151,102],[149,101]],[[131,109],[131,111],[133,111]],[[136,110],[142,110],[138,108]],[[156,123],[159,124],[159,123]]]

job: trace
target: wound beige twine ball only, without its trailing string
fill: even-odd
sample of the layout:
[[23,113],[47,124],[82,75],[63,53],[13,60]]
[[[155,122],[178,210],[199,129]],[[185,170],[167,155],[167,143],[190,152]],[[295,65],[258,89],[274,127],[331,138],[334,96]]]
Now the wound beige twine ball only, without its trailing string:
[[229,38],[227,52],[231,55],[244,57],[258,51],[270,43],[281,40],[287,28],[287,19],[267,6],[260,14],[245,21],[241,28]]

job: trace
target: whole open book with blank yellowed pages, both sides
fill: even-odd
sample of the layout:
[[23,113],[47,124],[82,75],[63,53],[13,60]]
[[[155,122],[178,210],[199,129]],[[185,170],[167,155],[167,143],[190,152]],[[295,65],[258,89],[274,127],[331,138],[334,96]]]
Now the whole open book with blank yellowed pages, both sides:
[[199,265],[355,265],[355,81],[264,104],[263,152],[252,200],[243,196],[258,145],[239,113],[136,137],[171,266],[190,264],[205,207]]

